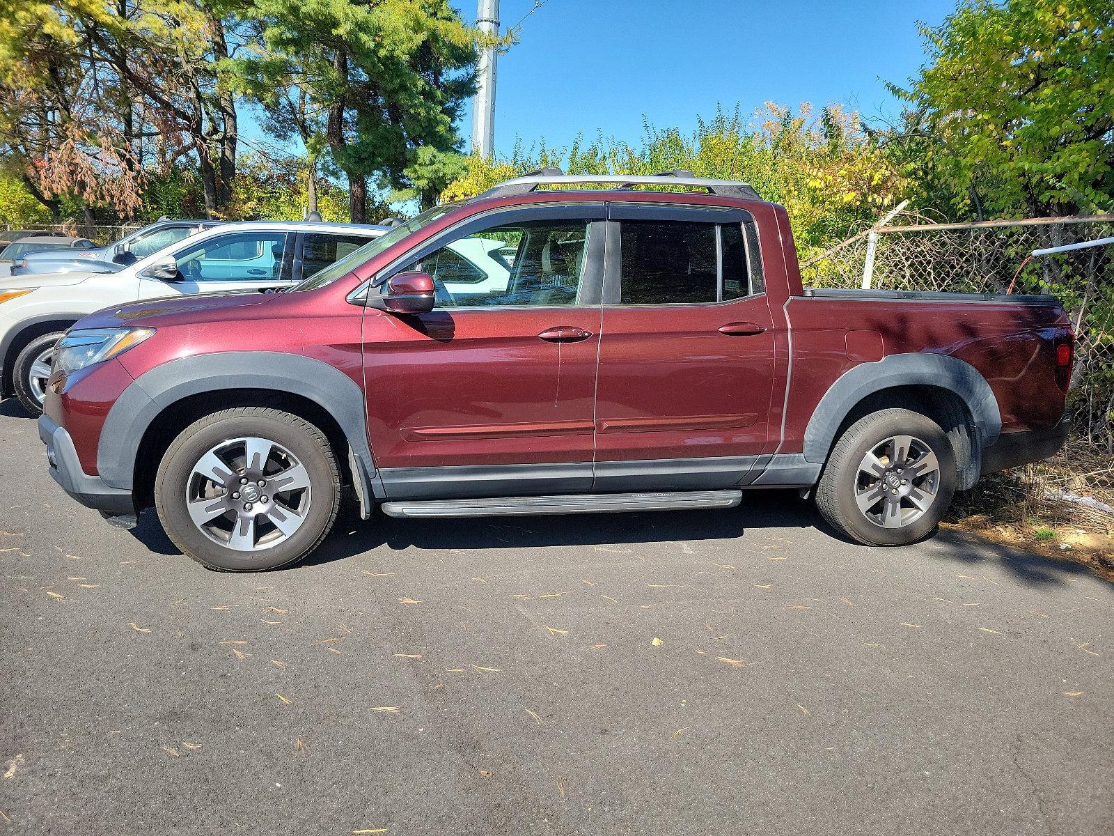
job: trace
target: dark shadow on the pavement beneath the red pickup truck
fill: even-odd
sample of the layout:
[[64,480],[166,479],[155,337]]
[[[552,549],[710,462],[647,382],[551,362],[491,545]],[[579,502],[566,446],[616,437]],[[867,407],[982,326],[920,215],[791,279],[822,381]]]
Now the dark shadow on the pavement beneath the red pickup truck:
[[[583,514],[569,516],[395,519],[375,514],[362,521],[352,506],[342,507],[332,534],[305,561],[296,566],[320,566],[387,546],[392,551],[424,548],[458,552],[560,546],[604,546],[628,551],[644,543],[680,543],[698,553],[702,541],[731,541],[751,532],[771,531],[791,555],[809,560],[839,561],[861,552],[866,560],[876,550],[854,544],[837,534],[820,517],[810,502],[795,492],[762,490],[743,495],[743,504],[731,511],[675,511],[664,514]],[[807,533],[798,544],[784,536],[786,528]],[[780,529],[780,531],[778,531]],[[811,531],[809,531],[811,529]],[[131,534],[153,552],[179,555],[150,511],[139,517]],[[822,552],[829,541],[833,551]],[[691,545],[690,545],[691,544]],[[793,554],[794,545],[800,554]],[[821,551],[818,551],[821,550]],[[1092,575],[1086,566],[1057,561],[1040,554],[983,541],[974,535],[942,528],[935,536],[912,546],[877,550],[886,555],[901,555],[910,561],[948,562],[957,572],[978,571],[993,564],[1027,585],[1055,584],[1068,579]],[[282,571],[282,570],[280,570]]]

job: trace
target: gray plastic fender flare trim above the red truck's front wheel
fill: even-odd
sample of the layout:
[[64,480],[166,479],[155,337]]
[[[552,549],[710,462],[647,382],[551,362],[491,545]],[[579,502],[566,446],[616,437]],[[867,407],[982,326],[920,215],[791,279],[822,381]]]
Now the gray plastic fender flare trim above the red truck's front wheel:
[[140,375],[117,398],[100,431],[97,470],[105,484],[130,490],[139,443],[155,418],[175,401],[222,389],[291,392],[322,407],[348,438],[360,483],[356,489],[361,499],[370,500],[375,466],[363,391],[329,363],[278,351],[195,354]]

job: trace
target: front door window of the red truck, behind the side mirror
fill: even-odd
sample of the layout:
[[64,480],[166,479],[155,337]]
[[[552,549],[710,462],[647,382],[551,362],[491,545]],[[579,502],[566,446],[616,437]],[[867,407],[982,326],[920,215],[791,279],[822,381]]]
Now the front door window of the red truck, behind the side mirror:
[[457,239],[409,270],[433,276],[441,308],[574,305],[588,221],[530,221]]

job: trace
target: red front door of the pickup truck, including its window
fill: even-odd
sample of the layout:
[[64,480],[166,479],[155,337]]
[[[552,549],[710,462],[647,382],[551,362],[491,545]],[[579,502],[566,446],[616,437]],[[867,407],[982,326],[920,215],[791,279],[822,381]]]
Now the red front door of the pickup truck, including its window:
[[590,489],[605,217],[603,204],[490,213],[378,276],[421,270],[437,290],[429,313],[364,315],[388,496]]

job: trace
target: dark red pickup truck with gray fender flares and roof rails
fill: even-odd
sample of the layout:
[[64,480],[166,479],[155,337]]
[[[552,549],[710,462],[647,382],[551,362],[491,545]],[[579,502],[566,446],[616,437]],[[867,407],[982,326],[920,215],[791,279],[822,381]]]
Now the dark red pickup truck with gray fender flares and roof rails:
[[309,553],[346,487],[365,518],[794,487],[893,545],[1059,449],[1072,353],[1051,297],[802,290],[785,211],[745,184],[546,172],[285,293],[87,317],[39,435],[76,499],[125,523],[154,505],[225,570]]

